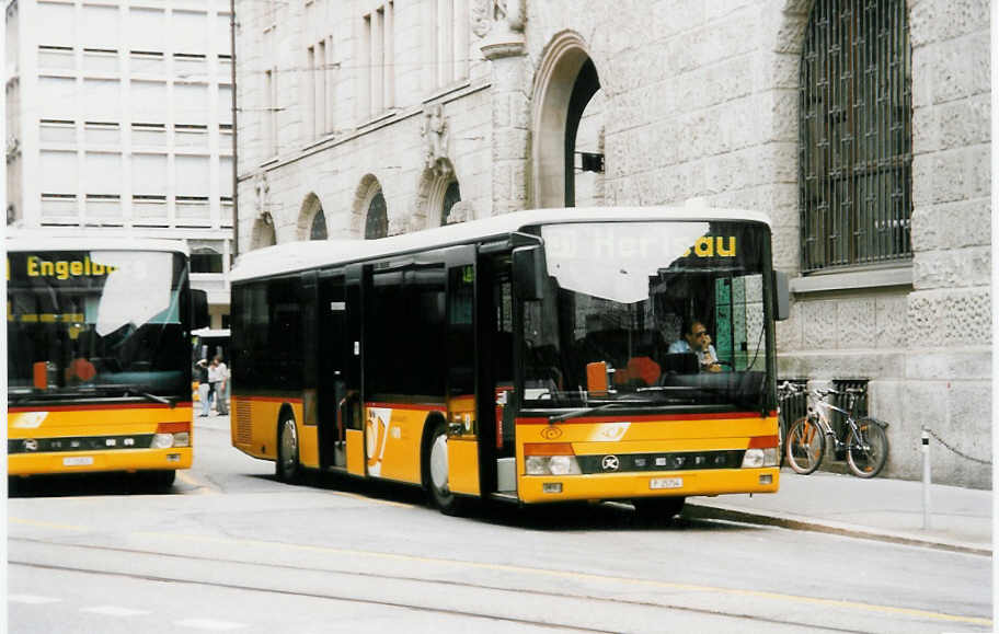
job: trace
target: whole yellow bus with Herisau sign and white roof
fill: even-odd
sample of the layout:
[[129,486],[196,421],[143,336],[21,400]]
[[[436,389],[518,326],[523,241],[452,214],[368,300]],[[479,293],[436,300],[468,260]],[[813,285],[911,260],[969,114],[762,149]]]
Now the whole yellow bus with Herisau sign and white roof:
[[[520,211],[276,245],[231,279],[232,443],[280,480],[415,484],[448,514],[585,499],[661,518],[778,489],[786,278],[760,214]],[[711,347],[680,344],[692,322]]]

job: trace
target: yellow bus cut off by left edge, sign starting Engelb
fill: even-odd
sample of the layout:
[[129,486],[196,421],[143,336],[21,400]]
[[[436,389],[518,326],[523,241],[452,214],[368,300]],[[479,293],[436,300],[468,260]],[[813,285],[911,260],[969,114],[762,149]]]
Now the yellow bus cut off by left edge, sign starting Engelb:
[[141,472],[193,458],[191,330],[207,322],[186,247],[164,240],[5,241],[8,475]]

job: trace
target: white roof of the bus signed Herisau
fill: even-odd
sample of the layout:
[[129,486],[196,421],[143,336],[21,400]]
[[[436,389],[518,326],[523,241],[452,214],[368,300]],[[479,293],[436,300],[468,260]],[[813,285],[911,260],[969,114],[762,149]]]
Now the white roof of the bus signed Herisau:
[[231,281],[238,281],[269,277],[319,266],[342,265],[421,250],[467,244],[479,240],[502,238],[510,232],[520,231],[526,227],[537,224],[669,220],[740,220],[770,226],[770,218],[760,211],[714,209],[697,204],[688,204],[686,207],[535,209],[514,211],[482,220],[447,224],[436,229],[403,233],[378,240],[296,241],[257,249],[240,255],[236,266],[230,272],[229,278]]

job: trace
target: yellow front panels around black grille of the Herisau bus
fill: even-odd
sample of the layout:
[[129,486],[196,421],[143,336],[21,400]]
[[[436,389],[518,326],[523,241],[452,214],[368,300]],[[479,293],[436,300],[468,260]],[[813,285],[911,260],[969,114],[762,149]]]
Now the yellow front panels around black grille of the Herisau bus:
[[[578,499],[630,499],[654,496],[774,493],[780,469],[698,469],[685,471],[635,471],[583,475],[527,475],[524,445],[570,443],[576,456],[621,456],[671,451],[747,449],[749,439],[773,436],[777,417],[710,419],[570,422],[569,424],[517,425],[517,493],[521,502],[546,503]],[[768,479],[761,476],[769,475]],[[682,486],[651,488],[652,479],[679,477]],[[561,484],[561,493],[546,493],[544,484]]]

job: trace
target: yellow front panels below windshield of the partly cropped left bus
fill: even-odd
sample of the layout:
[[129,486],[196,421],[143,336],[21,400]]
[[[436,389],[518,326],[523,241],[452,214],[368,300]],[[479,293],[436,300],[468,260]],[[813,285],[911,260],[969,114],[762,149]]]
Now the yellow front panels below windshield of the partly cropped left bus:
[[[108,407],[99,406],[32,412],[8,412],[9,440],[66,438],[85,436],[128,436],[156,434],[160,423],[186,423],[191,445],[194,445],[192,408],[177,407]],[[91,458],[92,463],[67,465],[66,458]],[[44,451],[13,453],[7,459],[9,475],[44,473],[91,473],[100,471],[176,470],[190,469],[194,459],[192,447],[169,449],[108,449]]]

